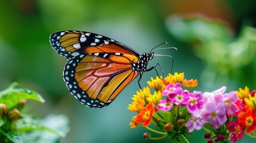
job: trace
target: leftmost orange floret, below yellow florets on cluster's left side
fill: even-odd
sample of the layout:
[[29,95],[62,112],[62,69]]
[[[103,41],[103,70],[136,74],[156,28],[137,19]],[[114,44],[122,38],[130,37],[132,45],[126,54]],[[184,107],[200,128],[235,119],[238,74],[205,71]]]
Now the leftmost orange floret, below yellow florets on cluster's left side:
[[142,126],[148,126],[151,122],[154,109],[155,107],[152,102],[147,104],[146,107],[141,108],[140,112],[137,114],[136,122],[143,123]]

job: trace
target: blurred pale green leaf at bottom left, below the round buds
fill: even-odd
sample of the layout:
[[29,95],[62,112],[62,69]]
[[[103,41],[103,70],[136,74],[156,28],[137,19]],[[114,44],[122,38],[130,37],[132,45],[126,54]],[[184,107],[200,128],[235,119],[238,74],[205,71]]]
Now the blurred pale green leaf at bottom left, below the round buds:
[[21,132],[24,142],[58,142],[69,132],[68,124],[66,116],[50,114],[42,120],[24,116],[16,120],[12,128]]

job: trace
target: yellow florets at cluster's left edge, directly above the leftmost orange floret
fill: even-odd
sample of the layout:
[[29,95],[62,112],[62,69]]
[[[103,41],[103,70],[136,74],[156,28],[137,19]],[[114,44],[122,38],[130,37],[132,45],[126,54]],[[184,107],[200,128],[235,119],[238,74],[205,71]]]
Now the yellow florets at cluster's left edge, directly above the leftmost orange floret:
[[129,104],[128,110],[134,112],[139,111],[141,108],[143,108],[146,104],[145,100],[147,97],[150,96],[150,89],[147,86],[146,88],[140,89],[140,91],[137,91],[136,95],[133,95],[132,104]]

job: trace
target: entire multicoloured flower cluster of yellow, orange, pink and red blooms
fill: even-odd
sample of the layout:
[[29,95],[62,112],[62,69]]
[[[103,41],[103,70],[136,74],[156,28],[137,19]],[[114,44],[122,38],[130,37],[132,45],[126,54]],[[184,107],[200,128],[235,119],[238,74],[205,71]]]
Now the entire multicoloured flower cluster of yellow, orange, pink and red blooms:
[[[147,83],[149,86],[140,89],[129,104],[128,109],[137,113],[130,126],[141,124],[162,136],[153,138],[144,133],[144,138],[168,137],[172,142],[189,142],[185,135],[201,129],[206,130],[208,142],[239,141],[244,130],[256,138],[256,91],[250,93],[245,87],[226,92],[223,86],[213,92],[192,92],[198,80],[186,80],[184,73],[151,78]],[[153,94],[150,89],[155,90]],[[161,131],[149,128],[150,123]]]

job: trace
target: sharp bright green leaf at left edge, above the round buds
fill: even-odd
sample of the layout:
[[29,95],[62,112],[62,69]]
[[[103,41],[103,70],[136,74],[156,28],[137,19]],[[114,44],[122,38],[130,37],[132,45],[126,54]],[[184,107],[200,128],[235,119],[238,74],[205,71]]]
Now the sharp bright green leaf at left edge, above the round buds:
[[7,89],[0,92],[0,102],[7,105],[7,107],[13,108],[21,100],[36,100],[39,102],[44,102],[45,100],[36,93],[29,89],[15,88],[17,83],[13,83]]

